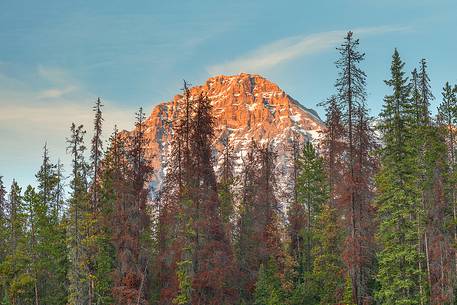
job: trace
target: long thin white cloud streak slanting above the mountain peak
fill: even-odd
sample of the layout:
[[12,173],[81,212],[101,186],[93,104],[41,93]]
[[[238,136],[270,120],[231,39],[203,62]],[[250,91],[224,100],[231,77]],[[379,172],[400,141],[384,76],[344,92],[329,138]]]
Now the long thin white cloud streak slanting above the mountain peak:
[[[379,26],[353,30],[358,36],[379,35],[409,30],[409,27]],[[307,36],[293,36],[263,45],[231,61],[207,68],[209,74],[262,72],[296,58],[319,53],[341,43],[346,30],[329,31]]]

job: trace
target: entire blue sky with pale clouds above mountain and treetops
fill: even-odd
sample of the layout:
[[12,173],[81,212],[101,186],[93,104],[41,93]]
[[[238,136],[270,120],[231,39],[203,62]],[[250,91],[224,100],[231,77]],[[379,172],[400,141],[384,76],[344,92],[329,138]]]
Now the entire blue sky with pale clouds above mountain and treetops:
[[334,91],[335,47],[348,30],[366,53],[368,106],[388,93],[394,48],[409,72],[429,62],[440,102],[457,83],[455,0],[2,0],[0,176],[36,184],[45,143],[69,174],[72,122],[92,136],[91,107],[104,103],[105,137],[131,129],[134,113],[214,75],[256,73],[321,115]]

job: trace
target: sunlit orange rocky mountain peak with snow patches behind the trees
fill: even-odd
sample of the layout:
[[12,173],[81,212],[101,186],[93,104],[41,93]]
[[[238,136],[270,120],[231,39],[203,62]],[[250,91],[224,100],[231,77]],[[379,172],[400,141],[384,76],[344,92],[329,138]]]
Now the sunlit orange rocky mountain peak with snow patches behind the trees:
[[[191,98],[204,94],[213,105],[216,170],[225,139],[234,149],[238,167],[243,152],[254,139],[260,144],[270,141],[275,147],[277,170],[282,175],[288,167],[287,152],[294,134],[302,140],[313,140],[323,129],[323,123],[313,110],[301,106],[276,84],[259,75],[215,76],[202,86],[190,88],[190,94]],[[165,174],[171,126],[182,98],[182,95],[176,95],[171,102],[157,105],[146,121],[148,154],[159,184]],[[239,168],[235,166],[237,170]]]

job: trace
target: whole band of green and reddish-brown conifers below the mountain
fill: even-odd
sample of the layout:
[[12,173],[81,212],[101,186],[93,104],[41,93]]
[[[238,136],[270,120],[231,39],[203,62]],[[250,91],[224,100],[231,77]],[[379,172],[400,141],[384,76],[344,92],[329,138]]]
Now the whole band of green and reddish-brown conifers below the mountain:
[[240,172],[227,144],[215,172],[211,101],[186,83],[159,189],[143,110],[111,132],[98,99],[62,139],[71,167],[44,145],[35,187],[0,180],[0,304],[457,304],[457,86],[433,93],[428,62],[395,49],[374,117],[352,32],[335,56],[287,206],[268,139]]

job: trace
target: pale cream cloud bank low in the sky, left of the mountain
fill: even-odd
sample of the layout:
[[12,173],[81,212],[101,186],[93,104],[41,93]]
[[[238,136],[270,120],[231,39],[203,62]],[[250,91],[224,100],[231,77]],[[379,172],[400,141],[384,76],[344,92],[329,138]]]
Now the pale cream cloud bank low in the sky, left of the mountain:
[[[34,86],[0,73],[0,79],[7,84],[0,84],[0,129],[14,126],[18,131],[30,131],[33,126],[38,126],[48,129],[48,136],[52,137],[72,122],[88,127],[91,125],[91,107],[97,95],[86,90],[65,70],[39,66],[36,74],[46,80],[46,85],[38,89],[32,89]],[[123,128],[129,128],[135,109],[109,100],[104,100],[103,104],[107,125],[117,123]]]

